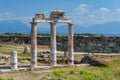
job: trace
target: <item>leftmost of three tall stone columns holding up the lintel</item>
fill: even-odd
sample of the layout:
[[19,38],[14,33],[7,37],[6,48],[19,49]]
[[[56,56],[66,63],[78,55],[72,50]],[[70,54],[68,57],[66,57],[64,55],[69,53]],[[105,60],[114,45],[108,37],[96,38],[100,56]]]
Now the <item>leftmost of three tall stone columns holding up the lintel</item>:
[[36,30],[37,23],[33,18],[31,22],[31,67],[37,67],[37,30]]

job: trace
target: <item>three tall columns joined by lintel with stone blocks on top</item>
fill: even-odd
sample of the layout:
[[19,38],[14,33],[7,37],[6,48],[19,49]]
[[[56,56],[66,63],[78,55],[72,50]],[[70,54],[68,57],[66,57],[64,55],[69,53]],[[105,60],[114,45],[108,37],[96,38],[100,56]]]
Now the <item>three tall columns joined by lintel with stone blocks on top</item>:
[[31,66],[33,68],[37,67],[37,23],[49,23],[50,24],[50,34],[51,34],[51,65],[56,66],[56,24],[57,23],[67,23],[68,24],[68,64],[74,64],[73,57],[73,30],[72,30],[72,20],[65,17],[65,12],[58,10],[52,11],[50,13],[50,18],[46,18],[44,14],[35,14],[35,18],[32,19],[31,23]]

